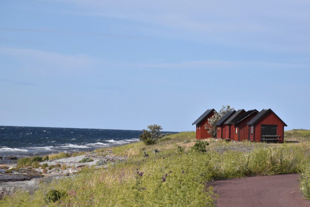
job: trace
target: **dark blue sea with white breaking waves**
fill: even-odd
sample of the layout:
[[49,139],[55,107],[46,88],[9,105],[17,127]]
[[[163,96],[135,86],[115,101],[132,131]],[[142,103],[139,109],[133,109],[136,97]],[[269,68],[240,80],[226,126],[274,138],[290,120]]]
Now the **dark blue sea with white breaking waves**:
[[[12,156],[73,153],[139,142],[141,130],[0,126],[0,164]],[[163,132],[177,133],[177,132]]]

